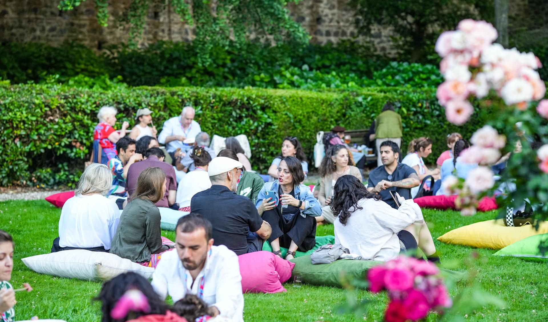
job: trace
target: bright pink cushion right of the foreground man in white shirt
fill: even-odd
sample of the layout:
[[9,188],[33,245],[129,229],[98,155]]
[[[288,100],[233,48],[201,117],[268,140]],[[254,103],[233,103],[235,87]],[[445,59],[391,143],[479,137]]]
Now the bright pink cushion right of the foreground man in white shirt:
[[269,251],[239,255],[238,262],[244,293],[286,292],[282,283],[291,278],[295,266],[295,263],[283,260]]

